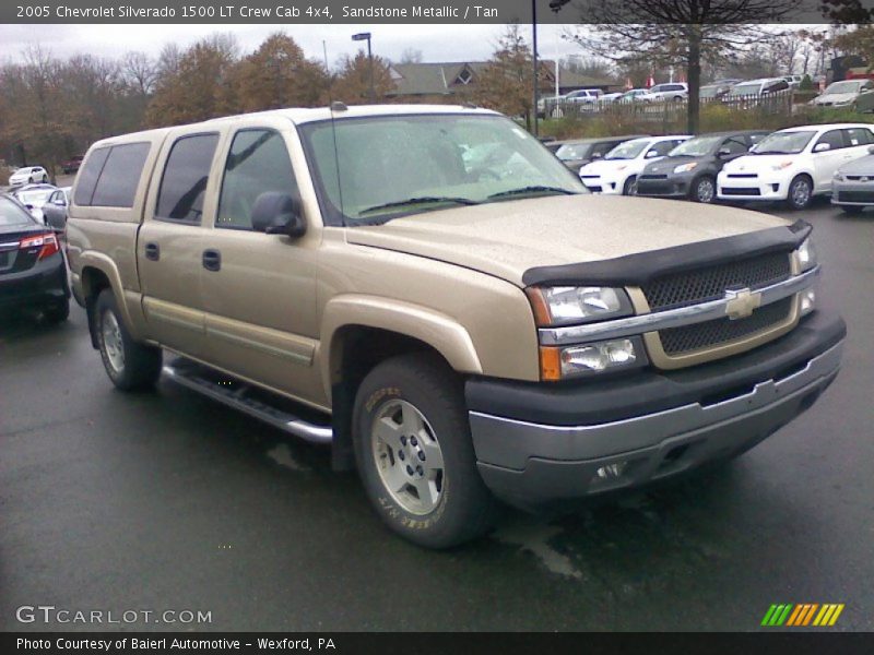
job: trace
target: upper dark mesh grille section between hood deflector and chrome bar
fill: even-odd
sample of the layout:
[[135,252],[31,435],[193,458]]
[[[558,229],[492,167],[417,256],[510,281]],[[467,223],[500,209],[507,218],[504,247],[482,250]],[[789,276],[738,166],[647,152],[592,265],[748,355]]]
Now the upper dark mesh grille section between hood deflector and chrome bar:
[[757,289],[787,279],[788,252],[777,252],[657,277],[641,286],[651,311],[719,300],[729,288]]

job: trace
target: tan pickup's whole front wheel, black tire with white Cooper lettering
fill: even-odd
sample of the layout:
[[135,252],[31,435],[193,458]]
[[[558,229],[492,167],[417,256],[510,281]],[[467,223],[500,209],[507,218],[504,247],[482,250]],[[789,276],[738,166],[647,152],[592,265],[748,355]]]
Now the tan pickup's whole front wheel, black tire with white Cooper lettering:
[[[404,434],[413,425],[406,420],[409,407],[424,418],[424,428]],[[401,418],[403,424],[395,422]],[[393,449],[376,436],[378,420],[391,426],[392,438],[399,440]],[[450,548],[485,534],[492,525],[498,503],[476,469],[463,388],[438,357],[403,355],[374,368],[355,396],[353,439],[358,474],[370,502],[386,525],[405,539],[427,548]],[[427,468],[425,453],[432,462],[440,462],[439,474]],[[418,466],[420,458],[426,468],[417,479],[410,464]],[[403,485],[397,492],[383,481],[389,474]],[[422,478],[434,481],[438,497],[425,501],[421,511],[411,511],[409,505],[421,499],[413,485]]]

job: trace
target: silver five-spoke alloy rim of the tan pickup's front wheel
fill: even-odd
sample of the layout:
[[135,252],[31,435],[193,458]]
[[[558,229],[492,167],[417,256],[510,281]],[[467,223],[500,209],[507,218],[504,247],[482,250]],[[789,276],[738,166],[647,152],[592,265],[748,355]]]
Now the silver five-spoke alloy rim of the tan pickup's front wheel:
[[382,486],[418,516],[434,511],[444,491],[444,455],[430,425],[414,405],[392,400],[374,419],[370,442]]

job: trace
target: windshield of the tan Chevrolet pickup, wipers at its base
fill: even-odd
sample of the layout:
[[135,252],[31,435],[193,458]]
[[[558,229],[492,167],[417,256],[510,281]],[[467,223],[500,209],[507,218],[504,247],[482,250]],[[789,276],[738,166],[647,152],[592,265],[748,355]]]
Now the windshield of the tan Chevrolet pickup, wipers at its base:
[[587,192],[536,139],[501,116],[368,117],[336,120],[333,127],[331,121],[299,127],[332,225]]

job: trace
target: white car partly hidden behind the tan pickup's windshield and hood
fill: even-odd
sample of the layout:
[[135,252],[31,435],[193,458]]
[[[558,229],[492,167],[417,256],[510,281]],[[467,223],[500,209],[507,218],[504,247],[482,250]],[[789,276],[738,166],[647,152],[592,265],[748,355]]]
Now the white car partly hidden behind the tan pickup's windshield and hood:
[[580,179],[592,193],[634,195],[637,176],[647,164],[664,157],[692,136],[685,134],[631,139],[614,147],[603,159],[580,168]]

